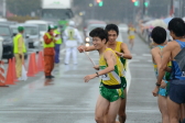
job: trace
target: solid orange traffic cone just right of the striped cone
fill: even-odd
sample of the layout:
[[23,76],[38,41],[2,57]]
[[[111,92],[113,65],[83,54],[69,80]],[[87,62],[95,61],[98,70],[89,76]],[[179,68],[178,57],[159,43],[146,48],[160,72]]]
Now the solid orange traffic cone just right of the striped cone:
[[6,79],[6,85],[15,85],[13,81],[13,72],[12,72],[12,60],[9,59],[9,67],[8,67],[8,72],[7,72],[7,79]]

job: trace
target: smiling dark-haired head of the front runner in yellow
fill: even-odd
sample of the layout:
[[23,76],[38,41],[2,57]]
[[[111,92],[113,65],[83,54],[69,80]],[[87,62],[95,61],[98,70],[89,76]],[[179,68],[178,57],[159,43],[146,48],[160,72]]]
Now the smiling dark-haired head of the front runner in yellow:
[[102,48],[108,41],[107,31],[100,27],[94,29],[89,35],[92,37],[92,44],[97,49]]

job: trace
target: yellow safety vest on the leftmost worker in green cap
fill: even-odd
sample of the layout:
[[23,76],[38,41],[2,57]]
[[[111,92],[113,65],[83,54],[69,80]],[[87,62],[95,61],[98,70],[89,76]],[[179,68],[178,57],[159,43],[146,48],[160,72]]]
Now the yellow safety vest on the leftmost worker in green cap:
[[[19,38],[22,37],[22,34],[17,34],[15,37],[13,38],[13,53],[14,54],[18,54],[18,42],[19,42]],[[23,42],[23,53],[26,53],[26,49],[25,49],[25,44]]]

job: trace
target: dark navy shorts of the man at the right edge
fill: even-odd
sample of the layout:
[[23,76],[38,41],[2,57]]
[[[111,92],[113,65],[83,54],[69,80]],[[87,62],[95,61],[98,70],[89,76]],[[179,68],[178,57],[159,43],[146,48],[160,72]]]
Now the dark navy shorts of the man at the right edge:
[[176,103],[185,103],[185,80],[171,80],[168,96]]

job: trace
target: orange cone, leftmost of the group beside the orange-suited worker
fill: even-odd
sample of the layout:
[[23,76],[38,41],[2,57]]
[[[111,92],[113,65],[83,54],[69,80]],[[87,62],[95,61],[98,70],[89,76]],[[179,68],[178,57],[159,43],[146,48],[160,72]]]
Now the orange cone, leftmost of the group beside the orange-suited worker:
[[33,54],[30,55],[28,77],[34,77]]

